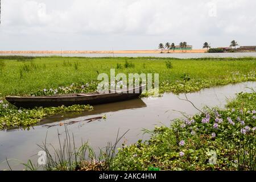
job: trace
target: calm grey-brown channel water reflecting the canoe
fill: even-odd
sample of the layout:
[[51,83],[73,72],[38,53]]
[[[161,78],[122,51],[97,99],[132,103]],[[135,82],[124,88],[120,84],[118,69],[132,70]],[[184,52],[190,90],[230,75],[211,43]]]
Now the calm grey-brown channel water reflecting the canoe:
[[[203,89],[200,92],[187,94],[189,100],[197,107],[218,106],[224,107],[226,100],[236,96],[239,92],[249,92],[249,88],[256,89],[256,82],[245,82],[236,85],[226,85]],[[92,111],[86,111],[82,114],[55,115],[44,119],[38,126],[30,130],[7,130],[0,131],[0,169],[8,169],[5,158],[10,160],[13,169],[22,169],[20,160],[27,162],[32,159],[36,163],[40,148],[36,144],[42,144],[47,134],[47,143],[58,146],[57,130],[60,137],[64,138],[64,126],[44,127],[43,124],[54,125],[60,122],[81,121],[86,118],[106,115],[106,119],[90,123],[78,122],[68,126],[70,134],[74,134],[77,146],[80,146],[81,140],[89,140],[94,148],[104,147],[107,142],[114,142],[118,129],[125,135],[124,140],[127,144],[134,143],[138,139],[148,139],[148,135],[142,135],[142,129],[154,129],[154,126],[169,126],[172,119],[180,118],[179,111],[187,114],[195,114],[197,110],[187,101],[181,101],[184,94],[179,96],[166,93],[160,98],[142,98],[125,102],[116,102],[112,104],[97,105]],[[121,142],[121,143],[122,143]],[[119,143],[119,144],[121,144]],[[14,160],[14,159],[19,159]],[[2,163],[1,163],[2,162]]]

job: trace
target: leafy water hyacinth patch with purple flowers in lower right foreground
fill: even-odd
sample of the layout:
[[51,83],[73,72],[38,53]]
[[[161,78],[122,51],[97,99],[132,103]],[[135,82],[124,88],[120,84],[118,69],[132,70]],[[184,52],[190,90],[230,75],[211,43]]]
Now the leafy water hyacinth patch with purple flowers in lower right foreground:
[[[118,170],[255,170],[256,93],[240,93],[225,110],[211,109],[170,127],[156,127],[151,139],[123,146]],[[216,158],[211,158],[216,154]]]

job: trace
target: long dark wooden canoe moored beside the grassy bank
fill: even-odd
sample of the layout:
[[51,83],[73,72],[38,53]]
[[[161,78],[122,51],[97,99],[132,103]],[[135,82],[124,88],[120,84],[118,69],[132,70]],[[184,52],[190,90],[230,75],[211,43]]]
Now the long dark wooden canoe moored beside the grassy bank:
[[145,85],[135,87],[133,89],[115,90],[109,93],[91,92],[91,93],[77,93],[77,94],[60,94],[54,96],[7,96],[8,102],[24,108],[32,107],[57,107],[57,106],[71,106],[79,105],[97,105],[109,102],[119,102],[130,100],[138,97],[146,88]]

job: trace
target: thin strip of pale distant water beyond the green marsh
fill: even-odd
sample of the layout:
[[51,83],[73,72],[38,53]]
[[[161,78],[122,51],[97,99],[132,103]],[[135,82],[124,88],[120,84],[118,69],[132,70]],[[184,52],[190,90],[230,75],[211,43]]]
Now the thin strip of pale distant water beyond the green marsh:
[[63,56],[63,57],[176,57],[181,59],[200,57],[256,57],[256,52],[234,53],[75,53],[75,54],[0,54],[18,56]]

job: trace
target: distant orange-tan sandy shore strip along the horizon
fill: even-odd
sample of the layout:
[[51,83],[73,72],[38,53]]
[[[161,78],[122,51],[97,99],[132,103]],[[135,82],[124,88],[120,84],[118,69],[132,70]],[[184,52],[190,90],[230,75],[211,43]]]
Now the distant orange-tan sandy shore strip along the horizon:
[[[187,51],[181,51],[181,50],[170,50],[169,53],[204,53],[206,52],[205,49],[193,49],[193,50],[187,50]],[[30,53],[56,53],[56,54],[71,54],[71,53],[161,53],[160,50],[119,50],[119,51],[0,51],[1,53],[20,53],[20,54],[30,54]],[[167,53],[166,50],[163,51],[163,53]]]

